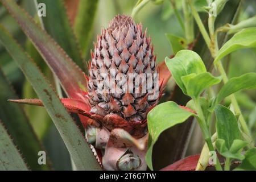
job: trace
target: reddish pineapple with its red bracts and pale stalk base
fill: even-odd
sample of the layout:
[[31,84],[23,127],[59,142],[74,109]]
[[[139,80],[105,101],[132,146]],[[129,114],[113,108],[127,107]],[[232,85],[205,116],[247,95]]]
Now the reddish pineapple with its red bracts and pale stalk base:
[[[158,103],[164,86],[159,84],[151,40],[142,24],[117,15],[98,36],[91,55],[84,101],[62,102],[69,111],[89,118],[82,119],[86,139],[104,169],[145,170],[146,115]],[[43,106],[40,100],[10,101]]]

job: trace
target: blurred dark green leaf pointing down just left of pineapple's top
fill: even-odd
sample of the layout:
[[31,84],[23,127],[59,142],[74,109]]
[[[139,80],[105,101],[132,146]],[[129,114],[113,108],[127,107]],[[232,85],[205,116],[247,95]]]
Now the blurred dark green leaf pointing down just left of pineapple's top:
[[93,22],[97,12],[97,6],[98,0],[84,0],[79,2],[74,31],[82,49],[82,57],[86,57],[89,50],[89,43],[92,40]]

